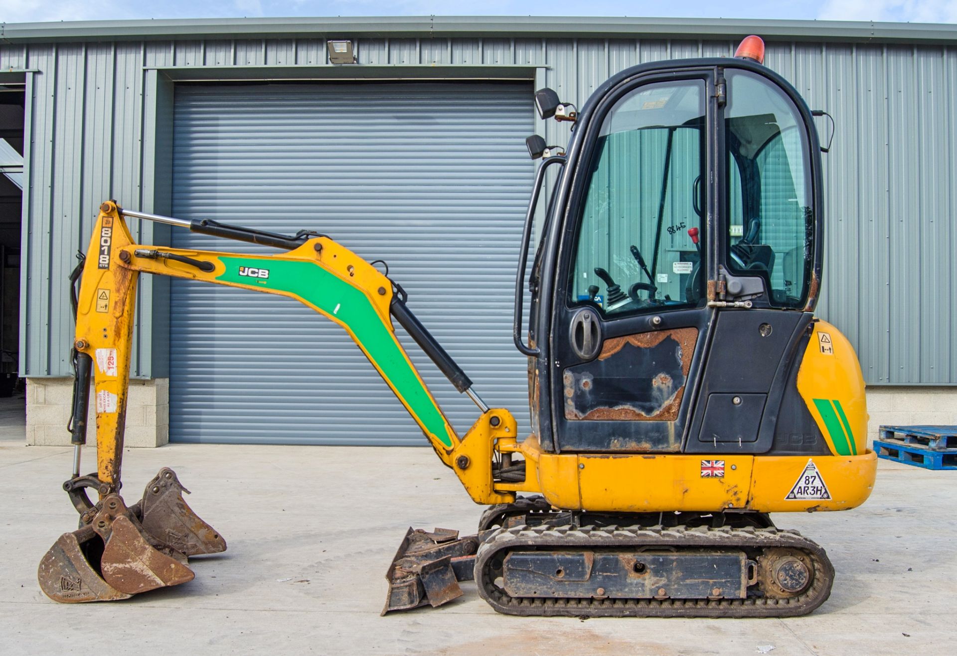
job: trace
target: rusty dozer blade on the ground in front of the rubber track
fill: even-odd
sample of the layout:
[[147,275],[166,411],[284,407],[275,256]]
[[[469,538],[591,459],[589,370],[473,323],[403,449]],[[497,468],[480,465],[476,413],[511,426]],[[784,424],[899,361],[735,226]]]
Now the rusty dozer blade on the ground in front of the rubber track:
[[461,597],[458,581],[473,577],[478,549],[477,535],[458,539],[458,532],[449,529],[410,528],[386,573],[389,595],[382,614],[427,603],[440,606]]

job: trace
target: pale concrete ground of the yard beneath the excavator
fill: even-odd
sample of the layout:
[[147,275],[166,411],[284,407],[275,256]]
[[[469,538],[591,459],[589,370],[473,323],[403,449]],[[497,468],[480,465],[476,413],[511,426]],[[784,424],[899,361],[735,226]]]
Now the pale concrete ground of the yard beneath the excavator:
[[[60,605],[36,565],[76,526],[61,491],[71,450],[23,446],[22,396],[0,399],[0,651],[9,654],[918,654],[953,635],[957,472],[880,462],[860,509],[778,515],[824,545],[834,592],[789,620],[513,618],[464,584],[438,609],[379,617],[406,529],[470,532],[479,519],[426,448],[172,444],[127,451],[125,497],[163,465],[229,542],[191,561],[196,578],[125,601]],[[94,467],[93,449],[84,470]],[[773,647],[773,649],[770,649]]]

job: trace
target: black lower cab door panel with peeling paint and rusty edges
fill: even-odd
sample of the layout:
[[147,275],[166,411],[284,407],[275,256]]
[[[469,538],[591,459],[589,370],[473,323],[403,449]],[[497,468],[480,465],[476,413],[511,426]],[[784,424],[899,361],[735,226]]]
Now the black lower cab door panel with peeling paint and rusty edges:
[[674,421],[697,341],[698,328],[605,340],[597,358],[565,370],[565,418]]

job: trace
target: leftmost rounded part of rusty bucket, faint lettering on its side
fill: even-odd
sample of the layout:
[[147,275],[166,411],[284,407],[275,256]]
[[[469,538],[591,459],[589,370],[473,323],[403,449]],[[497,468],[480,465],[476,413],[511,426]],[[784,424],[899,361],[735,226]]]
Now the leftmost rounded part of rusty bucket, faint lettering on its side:
[[63,533],[40,560],[36,573],[40,589],[61,603],[129,599],[131,595],[120,592],[100,577],[102,550],[102,539],[91,527]]

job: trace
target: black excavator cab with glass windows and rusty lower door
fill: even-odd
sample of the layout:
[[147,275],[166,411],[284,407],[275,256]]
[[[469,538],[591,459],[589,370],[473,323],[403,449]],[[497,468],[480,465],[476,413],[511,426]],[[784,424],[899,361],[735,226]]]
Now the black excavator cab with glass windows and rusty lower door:
[[594,94],[530,280],[543,449],[825,452],[807,410],[784,408],[816,438],[799,444],[769,420],[816,302],[817,143],[749,59],[647,64]]

